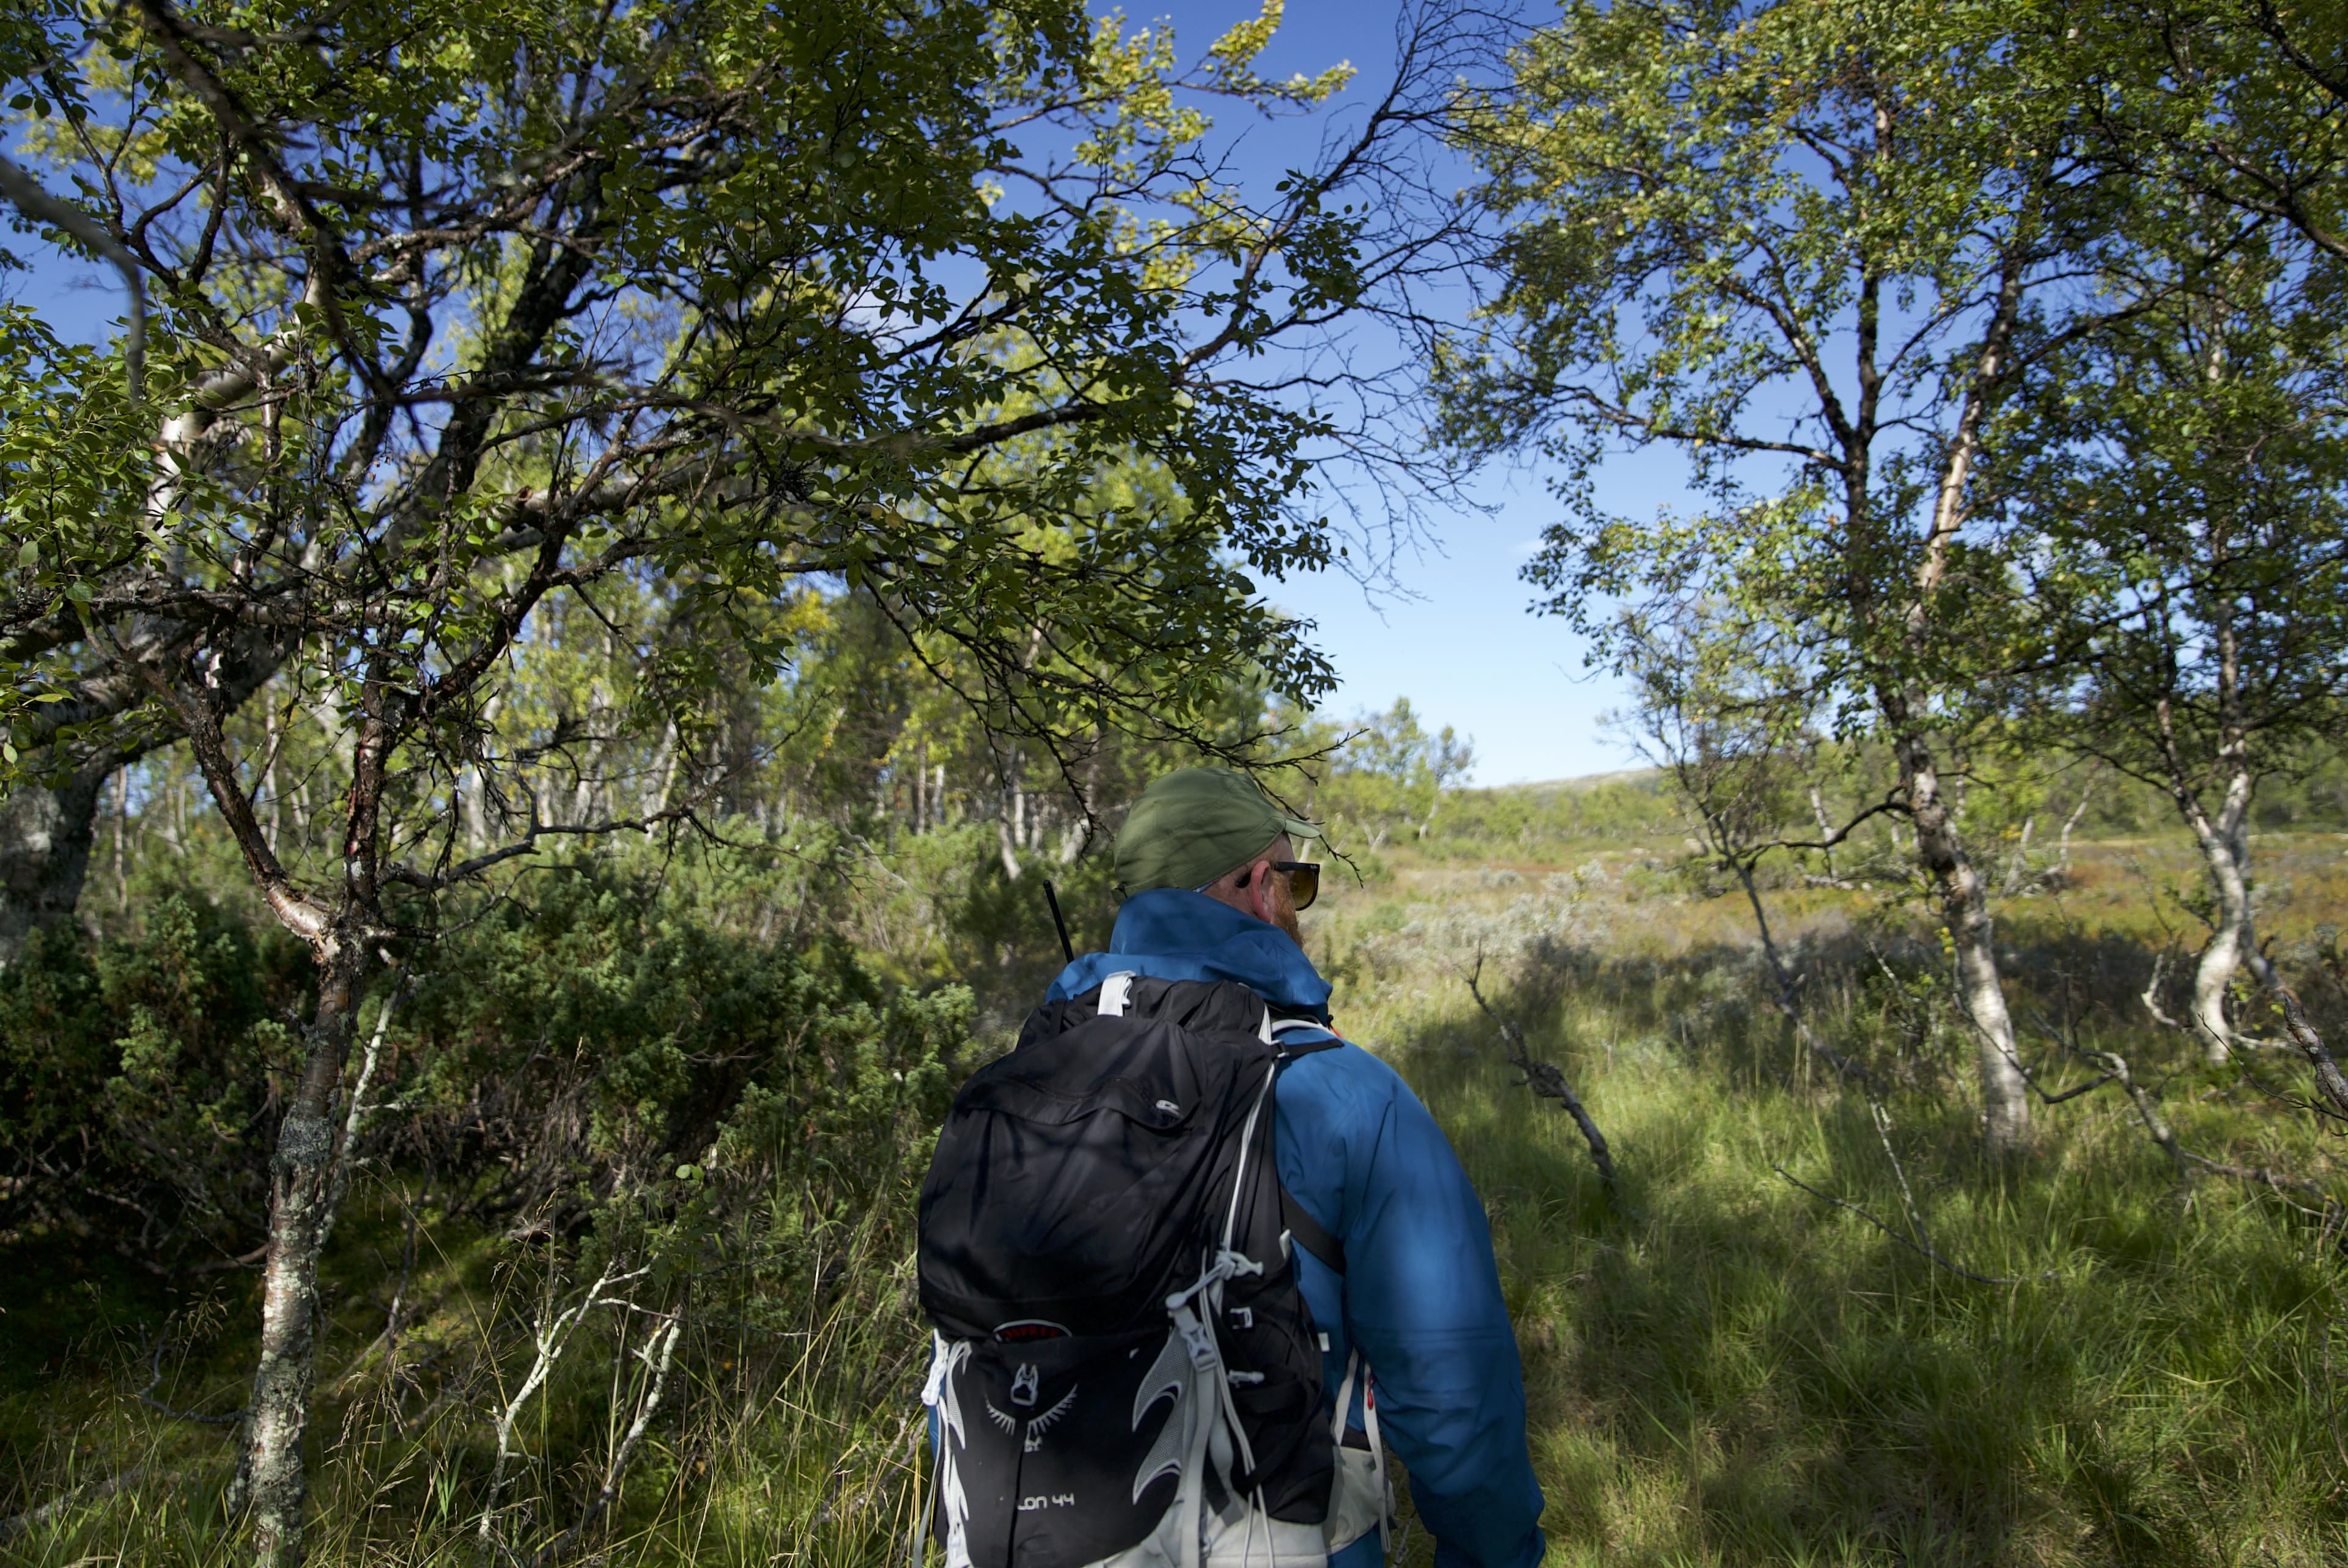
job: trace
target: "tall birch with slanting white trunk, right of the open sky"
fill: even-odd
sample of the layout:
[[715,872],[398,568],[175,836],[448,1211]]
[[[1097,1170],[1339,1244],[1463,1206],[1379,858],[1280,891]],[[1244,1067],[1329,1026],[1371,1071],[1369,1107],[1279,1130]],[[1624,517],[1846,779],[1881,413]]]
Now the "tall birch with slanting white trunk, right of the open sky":
[[[2087,256],[2125,195],[2078,162],[2033,21],[1568,5],[1468,124],[1512,230],[1484,331],[1442,366],[1458,446],[1561,465],[1526,575],[1597,657],[1627,655],[1622,596],[1712,596],[1801,648],[1843,739],[1892,753],[2000,1155],[2026,1082],[1949,779],[2019,629],[1975,469],[1996,413],[2104,324]],[[1625,448],[1681,453],[1700,514],[1608,514],[1599,462]]]

